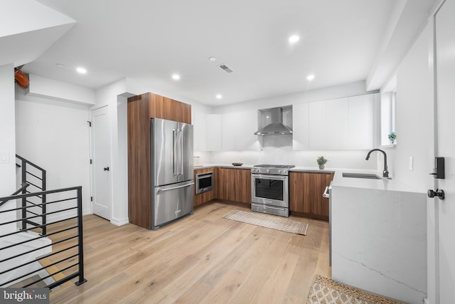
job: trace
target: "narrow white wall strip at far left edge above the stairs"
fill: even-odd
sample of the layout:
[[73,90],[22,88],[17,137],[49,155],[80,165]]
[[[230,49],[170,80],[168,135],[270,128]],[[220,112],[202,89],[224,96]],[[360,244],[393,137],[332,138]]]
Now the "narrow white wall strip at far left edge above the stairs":
[[[16,135],[14,117],[14,66],[0,66],[0,196],[16,191]],[[0,209],[14,208],[14,201]],[[14,213],[0,214],[0,222],[16,219]],[[1,231],[14,229],[14,225],[1,226]]]

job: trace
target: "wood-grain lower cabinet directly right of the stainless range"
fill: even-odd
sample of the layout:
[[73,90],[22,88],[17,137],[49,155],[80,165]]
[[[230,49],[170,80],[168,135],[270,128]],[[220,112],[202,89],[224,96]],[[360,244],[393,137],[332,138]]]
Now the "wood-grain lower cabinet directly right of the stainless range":
[[333,179],[333,173],[290,172],[289,210],[292,214],[328,220],[328,199],[324,189]]

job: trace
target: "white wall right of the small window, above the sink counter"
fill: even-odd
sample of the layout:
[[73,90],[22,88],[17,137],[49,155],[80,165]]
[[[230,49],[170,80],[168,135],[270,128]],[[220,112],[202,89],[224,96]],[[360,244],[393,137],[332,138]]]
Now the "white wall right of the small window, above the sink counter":
[[[427,26],[397,69],[397,146],[387,149],[392,174],[424,191],[432,182],[433,96],[429,53],[432,30]],[[410,157],[414,169],[410,170]]]

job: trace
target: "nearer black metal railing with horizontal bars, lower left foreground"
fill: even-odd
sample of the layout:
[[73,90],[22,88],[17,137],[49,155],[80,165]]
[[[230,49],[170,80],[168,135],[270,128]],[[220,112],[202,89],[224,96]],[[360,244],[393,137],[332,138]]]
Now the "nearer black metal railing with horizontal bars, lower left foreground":
[[[21,214],[31,214],[31,216],[28,216],[26,218],[27,223],[29,223],[31,220],[35,220],[36,218],[49,215],[53,215],[55,218],[60,219],[58,221],[54,221],[53,223],[33,225],[29,228],[0,235],[0,243],[4,243],[4,245],[0,247],[0,288],[8,287],[9,285],[18,281],[22,281],[25,278],[33,277],[40,271],[47,271],[46,268],[54,269],[54,267],[51,268],[51,266],[55,266],[55,268],[57,268],[57,271],[48,273],[48,276],[40,277],[40,279],[36,281],[26,283],[26,285],[21,285],[21,287],[33,287],[34,284],[40,281],[45,281],[46,279],[54,277],[59,273],[63,275],[63,278],[60,278],[58,281],[54,281],[53,283],[47,284],[47,288],[53,289],[58,285],[61,285],[77,277],[79,279],[75,283],[76,285],[80,285],[86,282],[84,278],[84,248],[82,243],[82,187],[72,187],[36,193],[16,194],[7,197],[0,197],[0,201],[10,201],[16,199],[29,200],[32,197],[42,198],[46,195],[53,200],[45,201],[42,204],[36,205],[41,205],[42,209],[45,209],[43,208],[43,205],[48,205],[49,210],[54,210],[48,211],[47,214],[34,215],[33,213],[26,211],[26,209],[34,208],[36,205],[26,205],[6,210],[2,208],[0,210],[0,214],[18,211],[22,211]],[[24,210],[26,212],[23,212]],[[3,226],[14,224],[20,221],[23,221],[23,219],[0,222],[0,231],[5,230],[2,229]],[[36,229],[46,231],[46,226],[49,226],[48,234],[36,234],[36,237],[33,237],[32,235],[29,236],[26,241],[11,241],[11,237],[14,238],[16,234],[22,234],[24,231],[36,231]],[[45,238],[52,240],[52,242],[46,243]],[[4,242],[1,242],[3,240]],[[29,242],[40,242],[40,240],[41,244],[39,244],[37,248],[33,248],[31,250],[26,249],[23,251],[14,250],[15,248],[17,249],[18,246]],[[10,243],[10,245],[8,245],[8,243]],[[21,253],[17,253],[17,251],[21,251]],[[44,256],[43,252],[45,252]],[[38,258],[31,258],[33,254],[34,256],[38,256]],[[27,269],[26,266],[29,264],[36,263],[36,261],[41,261],[42,259],[48,259],[48,261],[51,263],[38,268],[35,271],[24,270]],[[18,271],[19,268],[22,268],[22,271]],[[14,273],[20,274],[16,276]]]

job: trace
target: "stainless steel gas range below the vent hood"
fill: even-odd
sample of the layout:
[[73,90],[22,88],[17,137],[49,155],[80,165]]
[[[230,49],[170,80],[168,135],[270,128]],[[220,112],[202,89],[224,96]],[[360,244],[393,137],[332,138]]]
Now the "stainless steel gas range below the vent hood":
[[251,210],[289,216],[289,169],[294,165],[257,164],[251,169]]

